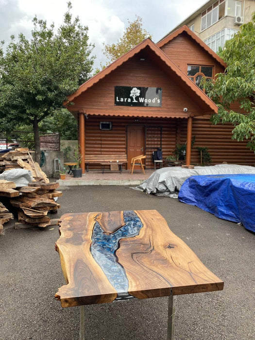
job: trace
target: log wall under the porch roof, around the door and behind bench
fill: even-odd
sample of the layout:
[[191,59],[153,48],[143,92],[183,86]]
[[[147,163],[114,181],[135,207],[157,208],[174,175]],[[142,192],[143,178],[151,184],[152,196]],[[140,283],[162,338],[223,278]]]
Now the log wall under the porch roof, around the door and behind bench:
[[[111,121],[112,130],[100,130],[100,121]],[[91,116],[85,121],[85,153],[86,154],[126,154],[127,153],[127,127],[142,125],[146,127],[162,128],[162,152],[167,157],[172,153],[176,143],[176,119],[139,119],[120,117]],[[148,145],[148,141],[146,142]],[[153,168],[151,144],[146,149],[146,167]],[[89,166],[90,169],[99,169],[98,165]]]

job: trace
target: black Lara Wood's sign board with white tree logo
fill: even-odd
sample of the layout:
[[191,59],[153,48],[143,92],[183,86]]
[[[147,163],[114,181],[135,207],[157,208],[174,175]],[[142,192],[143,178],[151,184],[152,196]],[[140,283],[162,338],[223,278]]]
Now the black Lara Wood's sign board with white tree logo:
[[115,86],[115,105],[161,107],[162,88]]

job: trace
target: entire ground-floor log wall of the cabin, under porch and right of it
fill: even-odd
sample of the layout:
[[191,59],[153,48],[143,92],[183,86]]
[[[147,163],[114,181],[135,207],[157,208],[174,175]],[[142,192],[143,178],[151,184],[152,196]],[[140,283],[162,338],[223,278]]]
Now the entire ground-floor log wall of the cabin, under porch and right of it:
[[[99,129],[100,121],[111,121],[112,130]],[[163,157],[172,154],[176,143],[185,144],[187,140],[186,119],[139,119],[123,117],[97,117],[90,116],[85,121],[85,150],[86,154],[126,154],[127,153],[127,128],[130,125],[143,125],[147,128],[162,128],[162,152]],[[245,142],[237,142],[231,139],[233,125],[213,125],[209,119],[193,119],[192,137],[195,143],[191,151],[191,164],[200,164],[200,154],[196,147],[207,147],[211,155],[211,165],[227,162],[229,164],[255,165],[255,154],[249,150]],[[146,167],[153,168],[152,152],[157,149],[149,140],[146,140]],[[90,169],[99,169],[97,165],[91,165]]]

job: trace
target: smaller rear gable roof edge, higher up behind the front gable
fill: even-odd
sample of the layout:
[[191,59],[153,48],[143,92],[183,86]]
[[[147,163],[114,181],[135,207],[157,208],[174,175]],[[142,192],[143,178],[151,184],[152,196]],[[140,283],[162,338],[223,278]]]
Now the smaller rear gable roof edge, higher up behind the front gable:
[[226,63],[224,63],[223,59],[215,53],[212,49],[210,49],[203,40],[201,40],[194,32],[192,32],[186,25],[178,28],[178,30],[174,31],[173,33],[167,35],[162,40],[160,40],[156,45],[160,49],[169,43],[171,40],[176,38],[178,35],[186,33],[190,36],[191,39],[193,39],[197,44],[199,44],[207,53],[209,53],[214,59],[218,61],[224,68],[227,67]]

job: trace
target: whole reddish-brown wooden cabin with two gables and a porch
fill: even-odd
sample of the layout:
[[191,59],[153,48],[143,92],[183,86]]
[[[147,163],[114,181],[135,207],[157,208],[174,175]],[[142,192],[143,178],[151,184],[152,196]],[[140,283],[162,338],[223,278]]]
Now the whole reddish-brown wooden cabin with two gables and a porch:
[[153,168],[153,151],[160,147],[167,157],[176,143],[186,143],[187,165],[200,163],[196,147],[208,148],[211,164],[254,165],[254,152],[231,139],[231,124],[212,125],[218,108],[199,87],[203,75],[214,78],[225,67],[187,26],[158,44],[145,39],[65,102],[79,122],[83,159],[127,154],[129,169],[132,157],[145,154],[146,167]]

